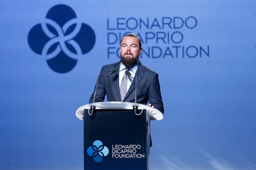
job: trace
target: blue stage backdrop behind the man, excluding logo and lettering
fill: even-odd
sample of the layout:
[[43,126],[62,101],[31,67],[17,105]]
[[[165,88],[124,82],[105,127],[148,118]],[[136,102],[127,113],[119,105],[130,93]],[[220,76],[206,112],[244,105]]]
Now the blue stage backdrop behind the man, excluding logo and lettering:
[[[30,29],[57,4],[71,7],[93,28],[93,49],[77,56],[68,73],[52,71],[46,56],[29,47]],[[0,169],[83,169],[83,122],[75,110],[89,102],[108,59],[107,19],[193,16],[193,29],[134,29],[115,32],[180,31],[179,44],[152,41],[142,47],[202,46],[209,57],[140,61],[159,74],[164,119],[151,122],[151,169],[256,169],[256,1],[1,1]]]

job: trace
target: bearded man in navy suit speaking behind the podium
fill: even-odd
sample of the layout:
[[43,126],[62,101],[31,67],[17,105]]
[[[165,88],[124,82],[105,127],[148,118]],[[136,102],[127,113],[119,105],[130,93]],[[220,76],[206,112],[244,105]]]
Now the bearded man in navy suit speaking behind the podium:
[[[95,102],[103,102],[105,95],[108,101],[134,102],[135,80],[127,77],[128,70],[131,76],[137,76],[137,103],[147,104],[163,113],[163,102],[158,80],[158,74],[139,62],[142,52],[140,38],[128,33],[120,44],[121,61],[102,67],[101,74],[106,75],[110,70],[116,68],[116,72],[108,76],[99,76],[97,95]],[[95,88],[94,88],[95,90]],[[93,103],[91,95],[89,103]]]

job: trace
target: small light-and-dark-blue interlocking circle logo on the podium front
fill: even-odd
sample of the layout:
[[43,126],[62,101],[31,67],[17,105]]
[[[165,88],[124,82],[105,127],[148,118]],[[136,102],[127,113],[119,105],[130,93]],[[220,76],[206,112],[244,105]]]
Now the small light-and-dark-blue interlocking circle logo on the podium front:
[[90,157],[93,157],[95,162],[101,162],[103,157],[109,154],[109,149],[106,146],[103,146],[101,141],[94,141],[93,146],[90,146],[87,149],[87,154]]

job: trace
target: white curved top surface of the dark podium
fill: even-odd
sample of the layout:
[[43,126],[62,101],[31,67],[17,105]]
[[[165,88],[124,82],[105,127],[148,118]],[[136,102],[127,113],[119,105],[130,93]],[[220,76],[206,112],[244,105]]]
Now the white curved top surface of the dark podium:
[[76,110],[76,117],[80,120],[83,120],[83,110],[90,109],[91,106],[95,106],[96,109],[113,109],[113,110],[125,110],[125,109],[133,109],[133,106],[138,106],[138,109],[146,109],[147,114],[150,120],[162,120],[163,114],[161,111],[156,108],[139,104],[139,103],[130,103],[130,102],[97,102],[90,103],[79,107]]

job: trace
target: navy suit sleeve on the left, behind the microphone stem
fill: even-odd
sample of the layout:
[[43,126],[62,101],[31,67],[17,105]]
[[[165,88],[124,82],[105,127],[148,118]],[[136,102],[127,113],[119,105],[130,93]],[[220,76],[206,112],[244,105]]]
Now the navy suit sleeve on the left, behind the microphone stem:
[[[104,73],[104,66],[101,68],[101,72],[100,74],[105,74]],[[97,81],[96,81],[97,83]],[[96,88],[96,84],[94,87],[94,91]],[[97,92],[96,92],[96,98],[95,98],[95,102],[103,102],[105,99],[105,95],[106,95],[106,91],[105,91],[105,83],[104,83],[104,76],[99,75],[99,81],[98,81],[98,87],[97,87]],[[89,100],[89,103],[93,103],[93,96],[94,96],[94,92],[91,95],[91,98]]]

